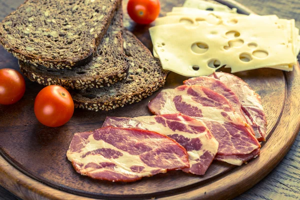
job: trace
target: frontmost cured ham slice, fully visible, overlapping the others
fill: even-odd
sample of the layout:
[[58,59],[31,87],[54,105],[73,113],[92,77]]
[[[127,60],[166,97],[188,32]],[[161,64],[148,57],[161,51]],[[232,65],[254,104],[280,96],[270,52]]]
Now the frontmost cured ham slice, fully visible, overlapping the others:
[[189,167],[186,150],[157,132],[106,126],[75,133],[66,156],[78,173],[130,182]]

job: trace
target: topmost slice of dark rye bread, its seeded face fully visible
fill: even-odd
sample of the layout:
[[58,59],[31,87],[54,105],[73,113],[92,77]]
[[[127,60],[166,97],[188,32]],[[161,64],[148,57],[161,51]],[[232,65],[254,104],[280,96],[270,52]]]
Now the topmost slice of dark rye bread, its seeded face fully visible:
[[0,23],[0,43],[24,62],[71,68],[92,60],[121,0],[26,0]]

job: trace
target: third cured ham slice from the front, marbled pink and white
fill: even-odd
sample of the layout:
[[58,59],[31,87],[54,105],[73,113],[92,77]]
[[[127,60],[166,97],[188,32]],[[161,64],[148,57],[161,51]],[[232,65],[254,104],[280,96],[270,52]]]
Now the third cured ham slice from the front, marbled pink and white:
[[[217,155],[230,156],[223,161],[240,165],[245,161],[239,155],[256,152],[252,158],[260,152],[260,145],[249,132],[248,124],[234,112],[227,98],[206,87],[181,85],[164,89],[148,103],[148,108],[153,114],[179,112],[201,119],[219,142]],[[235,159],[232,155],[236,155]]]

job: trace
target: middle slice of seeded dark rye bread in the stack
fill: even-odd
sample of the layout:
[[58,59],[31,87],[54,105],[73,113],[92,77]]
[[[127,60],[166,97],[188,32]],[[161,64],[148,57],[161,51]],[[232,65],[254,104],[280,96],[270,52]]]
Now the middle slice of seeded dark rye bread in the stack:
[[130,65],[123,53],[122,29],[119,8],[90,63],[73,69],[49,69],[19,60],[20,69],[30,80],[43,85],[57,84],[67,89],[110,86],[126,78]]

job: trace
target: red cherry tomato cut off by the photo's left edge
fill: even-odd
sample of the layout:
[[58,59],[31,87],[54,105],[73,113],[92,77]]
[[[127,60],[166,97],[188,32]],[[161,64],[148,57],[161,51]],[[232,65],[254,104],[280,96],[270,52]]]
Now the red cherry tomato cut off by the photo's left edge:
[[0,104],[8,105],[21,99],[25,92],[25,80],[14,69],[0,69]]

